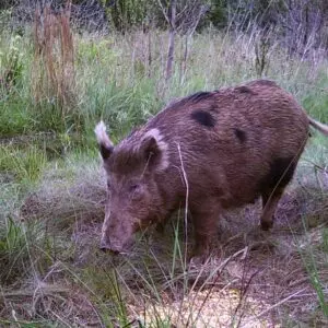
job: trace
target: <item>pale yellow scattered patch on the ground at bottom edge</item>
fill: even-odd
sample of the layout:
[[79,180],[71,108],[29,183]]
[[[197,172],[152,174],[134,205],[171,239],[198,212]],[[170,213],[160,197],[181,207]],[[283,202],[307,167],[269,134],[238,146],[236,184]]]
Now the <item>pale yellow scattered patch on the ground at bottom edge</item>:
[[258,317],[270,305],[244,296],[235,289],[195,291],[181,301],[169,302],[167,300],[164,304],[149,303],[144,308],[134,306],[130,309],[145,325],[161,320],[163,324],[174,325],[171,327],[260,328],[271,326],[272,323],[270,324],[268,318]]

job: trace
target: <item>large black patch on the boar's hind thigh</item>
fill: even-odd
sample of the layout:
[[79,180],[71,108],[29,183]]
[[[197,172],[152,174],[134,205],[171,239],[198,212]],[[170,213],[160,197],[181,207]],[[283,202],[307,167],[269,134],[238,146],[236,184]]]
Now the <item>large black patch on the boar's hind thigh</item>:
[[293,178],[296,162],[293,157],[276,159],[270,164],[270,172],[260,180],[260,192],[284,188]]

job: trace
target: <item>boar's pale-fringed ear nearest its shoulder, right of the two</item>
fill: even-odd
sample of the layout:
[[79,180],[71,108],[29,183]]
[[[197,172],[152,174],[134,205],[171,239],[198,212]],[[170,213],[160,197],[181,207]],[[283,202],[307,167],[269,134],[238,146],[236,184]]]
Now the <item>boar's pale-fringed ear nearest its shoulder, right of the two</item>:
[[167,143],[157,129],[151,129],[144,134],[140,151],[150,169],[162,171],[168,166]]

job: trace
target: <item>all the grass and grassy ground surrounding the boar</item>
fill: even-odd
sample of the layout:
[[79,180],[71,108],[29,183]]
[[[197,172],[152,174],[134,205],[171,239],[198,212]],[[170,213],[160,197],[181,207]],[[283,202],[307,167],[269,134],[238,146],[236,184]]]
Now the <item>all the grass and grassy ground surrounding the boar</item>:
[[[256,33],[234,36],[210,28],[190,39],[186,71],[185,39],[177,36],[174,74],[165,85],[167,34],[150,33],[74,35],[66,45],[69,54],[74,50],[69,106],[57,98],[65,74],[56,49],[58,80],[49,93],[43,90],[47,83],[36,87],[33,80],[39,73],[33,71],[35,61],[51,67],[44,63],[49,57],[35,55],[33,32],[0,34],[0,77],[8,80],[12,62],[15,71],[0,87],[0,324],[325,326],[328,141],[317,133],[270,235],[256,229],[259,203],[224,213],[216,256],[187,270],[191,231],[181,209],[164,235],[138,236],[130,256],[115,259],[98,250],[106,190],[95,124],[109,122],[117,142],[172,98],[259,73]],[[60,47],[58,39],[54,44]],[[265,55],[267,77],[327,122],[327,59],[315,49],[306,59],[292,58],[278,43]]]

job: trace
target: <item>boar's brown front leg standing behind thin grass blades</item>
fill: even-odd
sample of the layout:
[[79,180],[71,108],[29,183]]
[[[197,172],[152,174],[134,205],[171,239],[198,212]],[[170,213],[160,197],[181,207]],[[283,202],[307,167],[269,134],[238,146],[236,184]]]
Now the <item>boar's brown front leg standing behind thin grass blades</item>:
[[202,203],[191,210],[192,224],[195,230],[195,249],[191,261],[194,263],[204,262],[216,236],[216,222],[219,219],[220,208],[218,204]]

